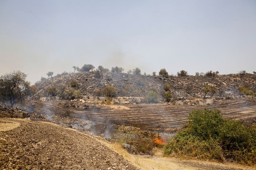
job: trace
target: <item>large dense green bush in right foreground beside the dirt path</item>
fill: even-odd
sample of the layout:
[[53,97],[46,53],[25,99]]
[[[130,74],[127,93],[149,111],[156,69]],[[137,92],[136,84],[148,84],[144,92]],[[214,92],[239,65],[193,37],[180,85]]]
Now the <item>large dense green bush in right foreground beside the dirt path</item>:
[[188,119],[188,128],[165,145],[166,155],[255,165],[255,129],[223,119],[220,110],[193,110]]

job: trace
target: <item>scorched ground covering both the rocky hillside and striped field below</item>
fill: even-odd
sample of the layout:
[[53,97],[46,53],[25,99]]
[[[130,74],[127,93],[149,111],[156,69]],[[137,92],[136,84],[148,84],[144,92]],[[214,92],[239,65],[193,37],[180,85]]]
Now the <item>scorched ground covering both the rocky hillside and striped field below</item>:
[[[69,82],[76,80],[78,87],[74,90],[79,90],[83,95],[85,104],[79,107],[80,104],[69,104],[70,97],[68,96],[50,96],[47,94],[47,89],[53,86],[58,89],[70,89]],[[37,82],[35,85],[38,92],[29,97],[30,103],[34,107],[40,105],[43,107],[44,114],[61,114],[71,111],[70,116],[74,118],[82,118],[96,123],[103,124],[118,124],[131,125],[141,127],[148,130],[168,131],[182,127],[187,119],[189,112],[197,108],[220,109],[224,118],[240,119],[247,125],[255,124],[255,96],[252,98],[244,98],[239,96],[237,87],[246,85],[250,90],[256,92],[256,76],[252,74],[230,74],[230,75],[216,75],[215,77],[207,76],[151,76],[151,75],[131,75],[126,73],[89,73],[80,72],[75,74],[58,75],[49,78],[45,81]],[[164,84],[170,84],[170,92],[172,94],[172,103],[164,103],[162,92]],[[114,109],[98,104],[88,104],[88,101],[93,99],[104,100],[95,96],[93,90],[95,88],[103,92],[107,86],[114,86],[116,88],[115,97],[129,96],[127,94],[126,86],[130,85],[136,91],[136,101],[126,102],[125,100],[116,103],[116,105],[124,105],[129,109]],[[203,88],[209,85],[214,85],[217,90],[211,98],[208,93],[206,99],[213,102],[205,105],[198,103],[187,105],[175,105],[183,102],[186,99],[193,100],[193,98],[201,98],[204,100]],[[145,103],[145,95],[154,87],[158,94],[157,104]],[[103,93],[100,96],[104,96]],[[222,96],[222,97],[220,97]],[[135,104],[136,103],[136,104]],[[63,107],[66,105],[65,108]],[[78,106],[78,107],[77,107]],[[81,105],[80,105],[81,106]],[[76,108],[77,107],[77,108]],[[27,107],[26,110],[30,108]]]

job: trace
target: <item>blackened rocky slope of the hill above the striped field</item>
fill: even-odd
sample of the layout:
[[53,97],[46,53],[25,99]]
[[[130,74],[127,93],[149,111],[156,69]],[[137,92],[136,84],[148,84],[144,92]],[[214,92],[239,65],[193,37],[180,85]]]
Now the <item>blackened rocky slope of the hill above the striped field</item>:
[[[78,87],[72,88],[70,86],[69,82],[72,80],[78,81]],[[244,85],[254,93],[256,92],[256,76],[252,74],[216,75],[216,77],[163,77],[131,75],[127,73],[80,72],[55,76],[45,81],[37,82],[35,85],[38,87],[38,92],[33,95],[32,99],[50,96],[61,96],[62,99],[70,99],[65,94],[57,94],[59,91],[64,92],[69,89],[79,90],[83,96],[104,96],[103,89],[107,85],[110,85],[116,88],[117,97],[137,96],[143,98],[152,89],[152,87],[154,87],[161,101],[165,83],[170,84],[170,91],[174,99],[204,97],[205,94],[203,92],[203,88],[211,85],[214,85],[217,88],[213,97],[240,95],[237,88]],[[51,86],[56,90],[56,94],[54,95],[49,95],[47,92],[48,88]],[[95,88],[100,90],[100,95],[93,93]],[[210,95],[210,93],[207,95]]]

